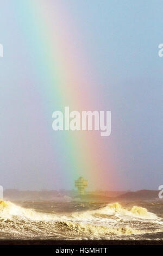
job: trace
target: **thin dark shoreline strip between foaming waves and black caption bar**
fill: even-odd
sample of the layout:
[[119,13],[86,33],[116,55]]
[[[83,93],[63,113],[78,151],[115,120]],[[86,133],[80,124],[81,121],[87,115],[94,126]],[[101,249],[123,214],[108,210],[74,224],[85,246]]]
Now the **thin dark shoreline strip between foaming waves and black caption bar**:
[[0,240],[1,245],[99,246],[99,245],[163,245],[163,240]]

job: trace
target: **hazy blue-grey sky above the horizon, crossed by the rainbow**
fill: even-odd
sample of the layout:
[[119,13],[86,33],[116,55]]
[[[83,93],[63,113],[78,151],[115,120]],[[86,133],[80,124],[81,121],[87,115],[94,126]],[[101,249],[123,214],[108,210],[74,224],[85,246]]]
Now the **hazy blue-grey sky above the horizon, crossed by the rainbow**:
[[[36,0],[35,4],[0,0],[0,44],[4,47],[4,57],[0,57],[0,184],[4,188],[70,189],[82,168],[90,189],[157,190],[163,184],[163,57],[158,56],[158,46],[163,44],[162,11],[161,0]],[[95,81],[90,89],[96,103],[90,110],[111,110],[111,136],[97,138],[100,148],[93,157],[99,174],[108,175],[103,187],[90,179],[92,158],[84,155],[87,144],[80,143],[80,133],[74,133],[74,140],[83,152],[81,158],[77,146],[64,141],[64,133],[56,135],[52,130],[52,113],[60,110],[61,96],[51,89],[49,47],[42,46],[58,38],[67,40],[60,47],[65,45],[70,56],[70,49],[76,49],[70,65],[76,58],[77,69],[84,67],[86,76]],[[63,56],[59,46],[53,47],[59,65]],[[60,73],[66,77],[66,70]],[[60,87],[56,82],[56,90]],[[85,84],[83,88],[87,92]],[[67,103],[63,100],[61,106]],[[90,148],[98,145],[93,143]],[[105,167],[108,164],[107,170],[100,170],[102,162]]]

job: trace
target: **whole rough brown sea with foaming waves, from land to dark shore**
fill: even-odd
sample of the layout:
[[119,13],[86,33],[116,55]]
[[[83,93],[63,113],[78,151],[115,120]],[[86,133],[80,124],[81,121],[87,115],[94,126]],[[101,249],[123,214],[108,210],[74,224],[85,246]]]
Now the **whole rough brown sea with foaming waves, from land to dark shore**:
[[0,239],[163,240],[163,204],[1,201]]

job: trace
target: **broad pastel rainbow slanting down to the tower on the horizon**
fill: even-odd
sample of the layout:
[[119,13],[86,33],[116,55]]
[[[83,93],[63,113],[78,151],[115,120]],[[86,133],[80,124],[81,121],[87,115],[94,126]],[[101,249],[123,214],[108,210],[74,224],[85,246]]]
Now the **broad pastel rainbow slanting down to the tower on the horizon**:
[[[71,11],[61,1],[15,3],[15,19],[29,54],[30,82],[39,94],[49,130],[52,130],[53,111],[63,111],[65,106],[78,111],[103,110],[97,109],[94,100],[100,88],[95,89],[90,79],[91,67]],[[59,157],[58,150],[62,153],[61,172],[54,168],[51,179],[58,182],[63,179],[62,186],[69,182],[73,187],[74,179],[82,175],[90,181],[90,188],[114,188],[117,177],[107,147],[109,138],[102,138],[97,132],[52,131],[47,135],[53,144],[54,158]]]

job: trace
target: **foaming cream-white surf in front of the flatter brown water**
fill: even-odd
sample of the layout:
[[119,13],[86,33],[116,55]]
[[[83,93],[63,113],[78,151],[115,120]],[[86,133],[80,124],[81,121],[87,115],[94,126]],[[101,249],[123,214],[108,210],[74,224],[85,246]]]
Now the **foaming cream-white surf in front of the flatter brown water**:
[[[72,213],[37,212],[9,201],[0,201],[0,239],[3,237],[53,237],[56,239],[109,239],[162,232],[163,223],[146,208],[119,203]],[[81,238],[82,237],[82,238]]]

